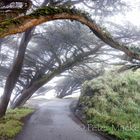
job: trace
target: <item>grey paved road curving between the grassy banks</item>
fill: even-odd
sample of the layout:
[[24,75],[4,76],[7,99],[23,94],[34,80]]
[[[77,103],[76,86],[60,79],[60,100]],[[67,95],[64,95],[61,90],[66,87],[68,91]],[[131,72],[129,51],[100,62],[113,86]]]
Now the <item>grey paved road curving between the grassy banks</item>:
[[84,129],[69,109],[72,101],[54,99],[40,104],[16,140],[106,140]]

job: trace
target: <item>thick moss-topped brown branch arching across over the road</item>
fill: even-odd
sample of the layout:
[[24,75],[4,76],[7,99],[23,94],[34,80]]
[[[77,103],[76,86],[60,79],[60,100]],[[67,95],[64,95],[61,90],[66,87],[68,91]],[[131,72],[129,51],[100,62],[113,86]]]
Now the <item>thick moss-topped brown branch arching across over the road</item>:
[[[2,22],[0,24],[0,36],[4,37],[6,35],[23,32],[27,30],[28,28],[39,25],[43,22],[57,20],[57,19],[77,20],[81,22],[82,24],[85,24],[86,26],[88,26],[97,37],[99,37],[101,40],[103,40],[105,43],[107,43],[111,47],[119,49],[125,52],[130,57],[140,60],[140,56],[137,52],[115,41],[110,36],[110,34],[108,34],[108,32],[106,32],[105,30],[102,30],[93,20],[91,20],[89,16],[87,16],[87,14],[82,13],[81,11],[76,10],[74,8],[49,6],[49,7],[38,9],[29,15],[21,16],[16,19],[11,19],[8,22]],[[42,82],[40,85],[42,85]]]

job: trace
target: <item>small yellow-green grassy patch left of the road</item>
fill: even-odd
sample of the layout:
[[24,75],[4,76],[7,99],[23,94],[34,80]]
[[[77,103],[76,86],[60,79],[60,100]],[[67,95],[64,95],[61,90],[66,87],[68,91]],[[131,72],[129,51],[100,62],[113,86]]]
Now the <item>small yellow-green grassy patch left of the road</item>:
[[8,110],[5,117],[0,119],[0,140],[13,140],[22,130],[23,119],[32,112],[29,108]]

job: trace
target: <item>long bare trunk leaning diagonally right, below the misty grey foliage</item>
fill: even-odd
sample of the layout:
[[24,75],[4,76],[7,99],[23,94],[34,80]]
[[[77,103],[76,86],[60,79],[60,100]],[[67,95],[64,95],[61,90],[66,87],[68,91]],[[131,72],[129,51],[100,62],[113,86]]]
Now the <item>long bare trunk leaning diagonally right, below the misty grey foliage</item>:
[[35,91],[37,91],[40,87],[42,87],[44,84],[49,82],[56,75],[64,72],[65,70],[68,70],[69,68],[72,68],[77,63],[82,62],[85,57],[87,57],[87,56],[89,56],[89,55],[91,55],[93,53],[96,53],[99,49],[100,49],[99,47],[95,47],[90,52],[85,52],[85,53],[79,54],[75,58],[67,60],[66,63],[62,64],[60,67],[58,67],[57,69],[52,71],[49,75],[47,75],[47,74],[42,75],[41,78],[39,78],[38,80],[34,81],[32,84],[30,84],[30,86],[27,89],[25,89],[21,93],[21,95],[17,98],[17,100],[11,106],[11,108],[14,109],[14,108],[17,108],[17,107],[23,105],[35,93]]

